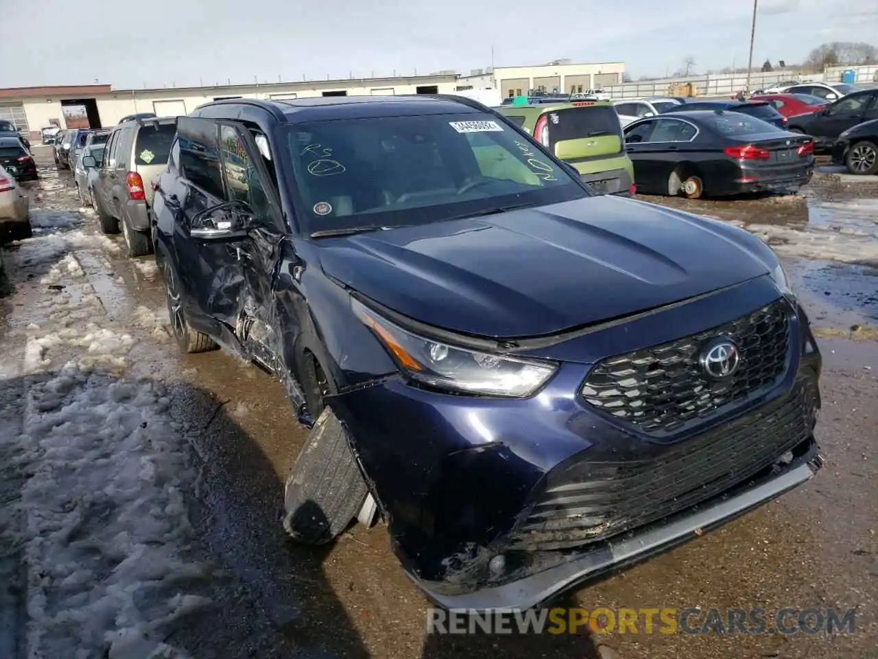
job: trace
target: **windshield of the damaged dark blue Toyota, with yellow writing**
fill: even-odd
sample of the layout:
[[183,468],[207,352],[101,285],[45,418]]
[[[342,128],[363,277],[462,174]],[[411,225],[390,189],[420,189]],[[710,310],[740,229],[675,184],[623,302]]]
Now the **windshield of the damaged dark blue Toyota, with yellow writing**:
[[493,114],[339,119],[284,127],[283,139],[308,234],[589,196]]

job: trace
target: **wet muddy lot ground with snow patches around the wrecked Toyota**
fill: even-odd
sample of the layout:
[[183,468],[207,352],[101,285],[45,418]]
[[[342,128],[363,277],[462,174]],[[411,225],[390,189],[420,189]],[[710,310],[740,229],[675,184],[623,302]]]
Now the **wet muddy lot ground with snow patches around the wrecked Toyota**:
[[[838,607],[854,634],[439,636],[383,525],[298,547],[279,521],[305,434],[282,387],[181,356],[150,257],[97,231],[38,148],[31,240],[4,250],[0,657],[875,657],[878,186],[651,203],[779,251],[823,337],[826,466],[722,529],[560,604]],[[76,649],[75,649],[76,648]]]

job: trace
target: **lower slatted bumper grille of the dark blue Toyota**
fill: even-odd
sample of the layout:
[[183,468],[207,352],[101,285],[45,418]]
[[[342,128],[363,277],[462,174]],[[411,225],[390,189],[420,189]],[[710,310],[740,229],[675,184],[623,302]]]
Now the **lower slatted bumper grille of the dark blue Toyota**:
[[510,549],[543,551],[604,540],[745,482],[810,438],[817,386],[801,380],[795,394],[768,407],[666,447],[653,460],[600,456],[550,473]]

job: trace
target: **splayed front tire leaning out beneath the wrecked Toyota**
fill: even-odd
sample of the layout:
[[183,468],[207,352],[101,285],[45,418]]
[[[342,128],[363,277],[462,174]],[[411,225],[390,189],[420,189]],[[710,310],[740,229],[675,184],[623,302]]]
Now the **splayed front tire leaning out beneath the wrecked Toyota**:
[[347,431],[324,408],[286,481],[284,530],[304,544],[326,544],[348,528],[368,495]]

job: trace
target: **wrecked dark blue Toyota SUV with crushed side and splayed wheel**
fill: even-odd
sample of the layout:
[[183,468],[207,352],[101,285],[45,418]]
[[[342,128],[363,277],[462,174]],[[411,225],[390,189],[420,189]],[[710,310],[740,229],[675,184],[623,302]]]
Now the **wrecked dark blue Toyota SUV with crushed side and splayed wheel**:
[[540,605],[822,463],[774,252],[593,196],[474,101],[216,101],[155,187],[177,343],[273,373],[310,428],[286,532],[381,518],[439,605]]

